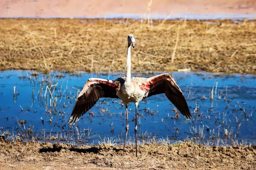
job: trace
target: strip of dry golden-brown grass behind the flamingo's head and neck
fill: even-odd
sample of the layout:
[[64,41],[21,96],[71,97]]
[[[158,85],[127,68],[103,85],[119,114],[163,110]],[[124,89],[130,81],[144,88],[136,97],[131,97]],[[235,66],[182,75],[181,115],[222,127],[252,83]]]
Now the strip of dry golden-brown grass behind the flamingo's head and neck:
[[[1,19],[0,69],[256,73],[255,20]],[[178,37],[177,37],[178,36]]]

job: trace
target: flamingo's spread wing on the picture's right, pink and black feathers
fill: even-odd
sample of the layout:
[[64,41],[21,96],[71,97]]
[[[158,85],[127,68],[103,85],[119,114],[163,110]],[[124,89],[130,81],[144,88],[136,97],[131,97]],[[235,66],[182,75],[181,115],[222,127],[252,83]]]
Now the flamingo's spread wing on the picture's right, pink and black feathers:
[[150,90],[144,98],[165,93],[166,97],[187,119],[192,118],[186,99],[175,80],[169,74],[160,74],[147,79]]

